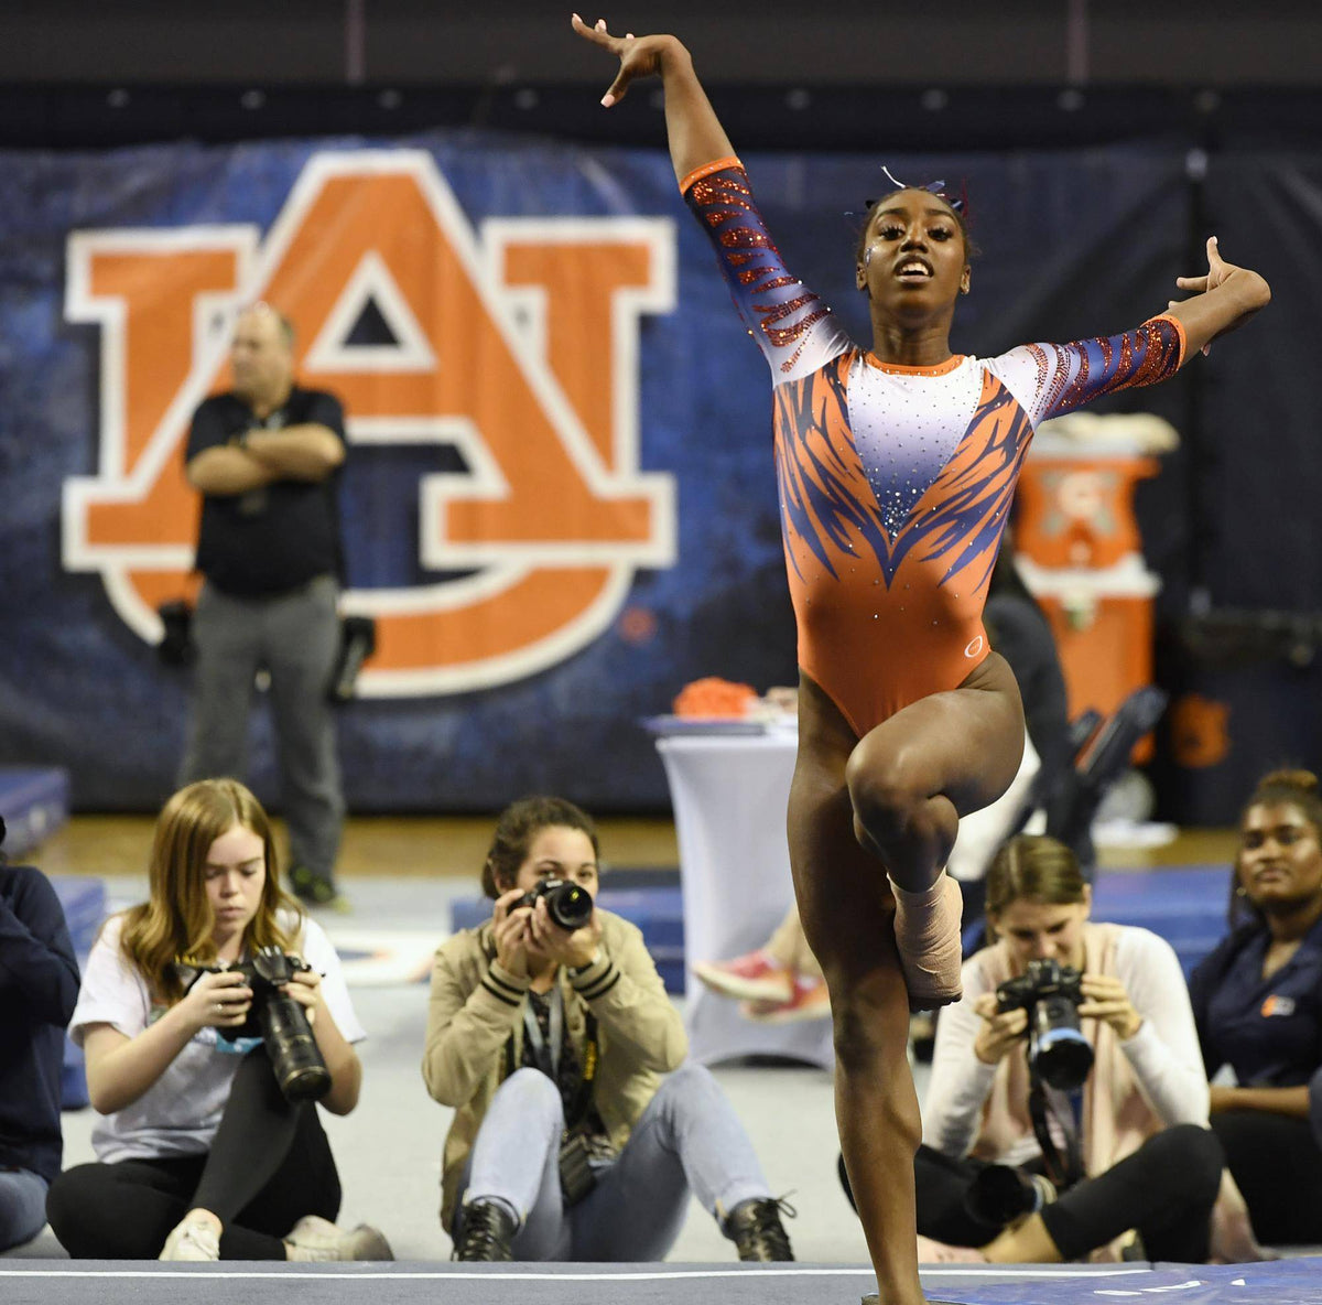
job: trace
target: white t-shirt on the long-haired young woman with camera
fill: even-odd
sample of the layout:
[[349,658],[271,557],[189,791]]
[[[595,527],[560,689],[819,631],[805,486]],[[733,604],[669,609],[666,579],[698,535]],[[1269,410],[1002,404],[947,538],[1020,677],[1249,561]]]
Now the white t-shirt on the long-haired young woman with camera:
[[[280,924],[292,931],[293,919]],[[106,923],[83,969],[82,992],[69,1023],[69,1035],[82,1046],[89,1026],[108,1023],[126,1038],[136,1038],[168,1008],[152,1005],[147,981],[120,951],[123,916]],[[330,939],[315,920],[304,920],[297,953],[321,974],[327,1009],[348,1042],[366,1033],[349,1001],[349,989]],[[122,1160],[196,1156],[210,1150],[212,1138],[229,1100],[242,1055],[222,1050],[214,1029],[198,1030],[165,1072],[132,1104],[98,1120],[91,1144],[107,1165]]]

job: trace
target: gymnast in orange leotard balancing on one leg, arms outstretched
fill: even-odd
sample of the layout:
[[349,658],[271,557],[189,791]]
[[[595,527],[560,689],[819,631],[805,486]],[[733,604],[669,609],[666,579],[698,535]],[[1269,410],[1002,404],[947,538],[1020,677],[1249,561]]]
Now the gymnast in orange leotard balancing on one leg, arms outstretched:
[[916,1305],[908,1014],[960,997],[945,861],[960,817],[1006,789],[1023,747],[1019,690],[981,615],[1032,430],[1174,376],[1270,291],[1211,239],[1207,274],[1177,282],[1192,297],[1125,335],[954,354],[970,286],[960,209],[939,186],[896,186],[869,208],[854,255],[873,327],[859,348],[785,270],[683,45],[572,25],[620,61],[607,108],[661,77],[680,189],[771,365],[798,625],[789,858],[830,992],[841,1145],[880,1298]]

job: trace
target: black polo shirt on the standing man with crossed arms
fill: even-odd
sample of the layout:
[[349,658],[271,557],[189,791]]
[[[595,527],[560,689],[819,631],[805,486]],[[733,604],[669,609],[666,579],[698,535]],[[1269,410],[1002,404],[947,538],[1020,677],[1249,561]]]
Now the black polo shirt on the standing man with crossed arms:
[[[315,423],[344,443],[344,409],[324,390],[295,386],[259,420],[233,391],[213,394],[193,414],[185,461],[250,430]],[[196,566],[218,590],[258,598],[297,588],[317,575],[344,579],[337,505],[340,468],[325,480],[276,480],[245,494],[204,494]]]

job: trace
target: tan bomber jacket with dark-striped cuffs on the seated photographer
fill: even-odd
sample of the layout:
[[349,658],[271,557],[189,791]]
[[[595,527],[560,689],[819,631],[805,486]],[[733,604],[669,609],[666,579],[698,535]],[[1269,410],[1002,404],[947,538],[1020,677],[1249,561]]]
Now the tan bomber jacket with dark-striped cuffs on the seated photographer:
[[[580,1054],[587,1013],[596,1018],[600,1063],[592,1101],[620,1148],[661,1086],[661,1075],[683,1063],[689,1042],[642,933],[609,911],[596,914],[602,923],[596,963],[572,973],[562,969],[557,978],[564,994],[564,1031]],[[422,1076],[435,1100],[455,1108],[442,1165],[446,1228],[477,1129],[505,1078],[510,1039],[513,1064],[522,1058],[527,989],[527,978],[517,978],[496,960],[490,920],[436,948]]]

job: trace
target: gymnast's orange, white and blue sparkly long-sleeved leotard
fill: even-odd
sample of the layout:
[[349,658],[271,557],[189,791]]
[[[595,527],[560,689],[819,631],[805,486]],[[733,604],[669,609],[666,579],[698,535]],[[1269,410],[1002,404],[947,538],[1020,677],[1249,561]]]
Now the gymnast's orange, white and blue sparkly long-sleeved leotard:
[[787,272],[738,159],[681,190],[771,364],[798,665],[862,738],[988,656],[988,580],[1038,423],[1173,376],[1183,328],[883,364]]

